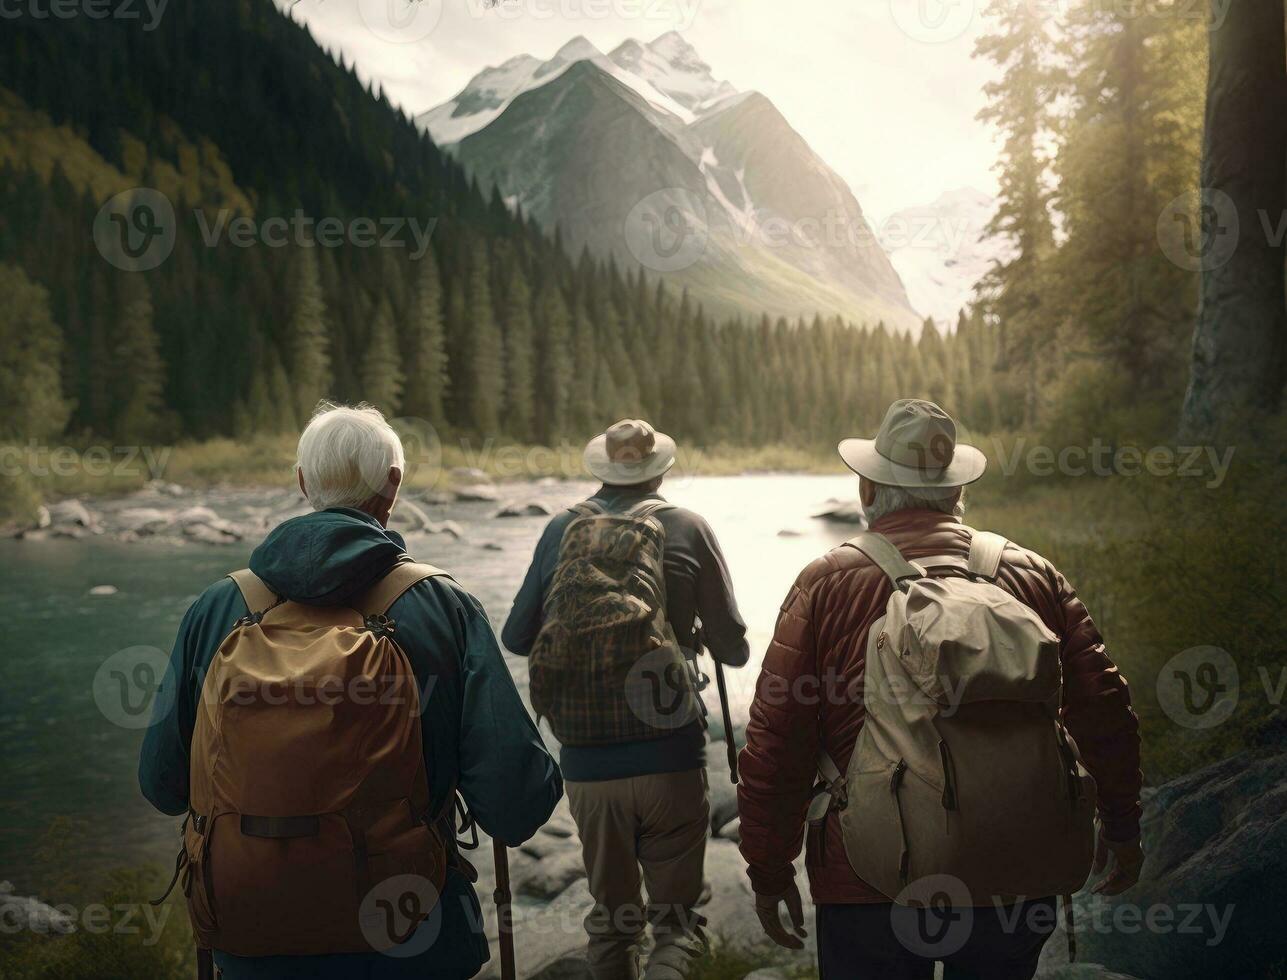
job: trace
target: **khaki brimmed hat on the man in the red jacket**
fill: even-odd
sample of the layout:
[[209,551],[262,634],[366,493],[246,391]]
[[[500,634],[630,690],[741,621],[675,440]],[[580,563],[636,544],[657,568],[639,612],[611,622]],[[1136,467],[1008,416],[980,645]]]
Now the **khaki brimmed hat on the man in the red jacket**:
[[844,439],[837,448],[846,466],[887,487],[951,489],[987,469],[987,456],[956,443],[952,417],[920,398],[891,404],[875,439]]

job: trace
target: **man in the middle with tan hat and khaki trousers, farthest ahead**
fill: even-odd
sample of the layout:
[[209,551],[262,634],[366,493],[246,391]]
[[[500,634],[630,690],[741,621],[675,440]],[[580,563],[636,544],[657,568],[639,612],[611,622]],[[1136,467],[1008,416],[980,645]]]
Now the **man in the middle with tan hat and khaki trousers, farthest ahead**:
[[[737,612],[714,532],[700,515],[669,505],[658,492],[674,462],[674,439],[638,419],[616,422],[586,447],[586,469],[602,485],[589,500],[556,515],[546,527],[502,631],[512,653],[533,654],[533,679],[542,627],[551,623],[551,617],[553,623],[559,622],[559,609],[566,612],[566,607],[559,605],[559,589],[552,592],[561,564],[574,564],[565,536],[583,542],[586,538],[574,525],[595,520],[609,525],[611,534],[623,527],[618,523],[622,520],[655,522],[651,529],[641,532],[624,525],[629,540],[641,534],[659,552],[664,599],[663,608],[653,612],[669,623],[674,641],[689,659],[705,645],[721,663],[731,667],[746,663],[746,625]],[[570,527],[573,533],[568,533]],[[573,605],[597,605],[600,598],[609,603],[620,600],[625,590],[610,578],[619,569],[607,564],[596,568],[596,574],[601,572],[602,585],[597,580],[592,585],[596,595]],[[605,590],[618,595],[597,594]],[[625,599],[634,601],[633,596]],[[638,653],[645,654],[637,658],[640,663],[651,655],[646,644]],[[609,699],[610,694],[604,698]],[[533,702],[537,702],[535,683]],[[646,704],[631,703],[629,708],[646,713]],[[653,923],[655,940],[644,974],[647,980],[678,980],[705,947],[694,907],[701,895],[709,833],[707,735],[700,712],[673,717],[673,721],[655,719],[655,730],[645,726],[637,738],[601,744],[565,739],[560,752],[595,899],[586,931],[587,958],[596,977],[638,976],[645,922]],[[559,726],[555,728],[557,734]],[[646,887],[647,905],[641,886]]]

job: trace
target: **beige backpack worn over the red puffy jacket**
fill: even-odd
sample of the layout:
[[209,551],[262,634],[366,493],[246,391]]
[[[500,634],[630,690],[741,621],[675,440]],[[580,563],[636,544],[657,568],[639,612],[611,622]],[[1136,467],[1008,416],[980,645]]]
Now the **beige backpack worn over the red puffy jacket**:
[[901,904],[941,903],[945,876],[952,904],[1076,891],[1094,782],[1059,721],[1058,637],[996,585],[1005,540],[973,532],[968,567],[910,563],[870,532],[848,543],[896,589],[869,634],[848,771],[822,753],[811,823],[839,809],[853,871]]

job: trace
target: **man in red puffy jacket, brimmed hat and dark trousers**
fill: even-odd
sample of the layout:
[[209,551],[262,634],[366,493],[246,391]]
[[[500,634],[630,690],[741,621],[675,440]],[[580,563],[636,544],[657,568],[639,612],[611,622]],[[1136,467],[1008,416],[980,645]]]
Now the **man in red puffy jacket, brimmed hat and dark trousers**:
[[[946,412],[932,402],[894,402],[875,439],[847,439],[839,448],[861,478],[871,531],[911,561],[967,559],[972,532],[960,522],[961,488],[983,474],[987,460],[978,449],[956,444],[956,426]],[[1062,721],[1098,789],[1095,871],[1103,871],[1109,858],[1113,865],[1097,890],[1118,894],[1138,881],[1143,862],[1139,720],[1126,681],[1086,607],[1049,561],[1009,543],[996,582],[1059,637]],[[803,948],[793,862],[804,842],[820,751],[846,771],[864,722],[861,693],[852,692],[861,692],[867,631],[884,614],[892,589],[862,551],[834,549],[795,580],[764,654],[740,759],[741,854],[764,932],[788,948]],[[824,980],[928,980],[936,959],[945,963],[949,980],[1031,977],[1054,928],[1053,898],[1033,898],[1019,916],[1006,908],[973,909],[969,936],[959,949],[949,953],[945,947],[941,956],[916,949],[898,926],[893,896],[876,891],[849,867],[834,809],[810,833],[806,868],[817,907]],[[790,931],[780,919],[782,904]]]

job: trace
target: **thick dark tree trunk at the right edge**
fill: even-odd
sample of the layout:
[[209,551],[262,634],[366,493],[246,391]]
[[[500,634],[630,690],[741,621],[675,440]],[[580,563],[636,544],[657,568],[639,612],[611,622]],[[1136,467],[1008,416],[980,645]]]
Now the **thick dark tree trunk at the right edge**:
[[[1212,0],[1212,8],[1225,19],[1211,30],[1202,288],[1185,438],[1232,437],[1246,417],[1277,411],[1287,372],[1283,0]],[[1238,236],[1232,258],[1216,238],[1230,233]]]

